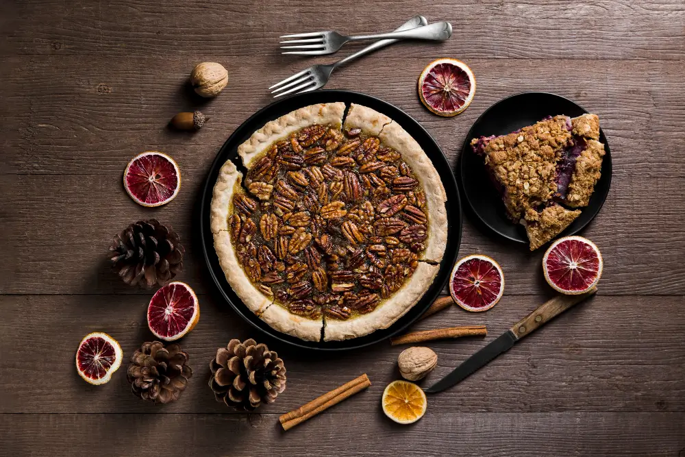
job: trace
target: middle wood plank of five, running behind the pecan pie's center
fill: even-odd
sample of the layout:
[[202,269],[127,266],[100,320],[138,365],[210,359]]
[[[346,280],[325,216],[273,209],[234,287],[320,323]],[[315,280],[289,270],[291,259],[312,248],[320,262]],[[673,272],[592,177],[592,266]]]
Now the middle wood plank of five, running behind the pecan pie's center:
[[[183,162],[181,162],[183,166]],[[179,279],[198,292],[214,291],[199,238],[203,172],[183,174],[179,196],[160,208],[130,199],[119,173],[102,175],[5,175],[0,201],[5,236],[0,238],[2,293],[143,293],[119,280],[107,264],[112,237],[129,223],[155,217],[171,224],[186,245],[186,271]],[[643,188],[651,189],[648,193]],[[682,294],[681,178],[614,179],[608,200],[584,236],[603,253],[603,293]],[[540,269],[543,250],[503,243],[472,224],[467,214],[460,255],[481,252],[503,267],[506,293],[548,289]]]

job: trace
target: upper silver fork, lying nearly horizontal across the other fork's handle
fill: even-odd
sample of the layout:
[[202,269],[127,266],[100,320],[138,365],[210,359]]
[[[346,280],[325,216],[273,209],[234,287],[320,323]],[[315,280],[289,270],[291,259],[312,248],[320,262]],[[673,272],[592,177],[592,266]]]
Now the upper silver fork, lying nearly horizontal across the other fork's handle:
[[[349,41],[362,40],[434,40],[444,41],[452,35],[452,25],[449,22],[436,22],[421,28],[414,28],[412,30],[396,30],[389,34],[374,34],[374,35],[358,35],[345,36],[338,32],[312,32],[309,34],[295,34],[284,35],[280,38],[303,38],[301,40],[286,40],[282,41],[282,45],[297,45],[297,46],[282,46],[281,49],[298,49],[299,51],[286,51],[284,54],[297,55],[324,55],[332,54],[340,47],[343,47]],[[306,44],[303,44],[306,43]]]

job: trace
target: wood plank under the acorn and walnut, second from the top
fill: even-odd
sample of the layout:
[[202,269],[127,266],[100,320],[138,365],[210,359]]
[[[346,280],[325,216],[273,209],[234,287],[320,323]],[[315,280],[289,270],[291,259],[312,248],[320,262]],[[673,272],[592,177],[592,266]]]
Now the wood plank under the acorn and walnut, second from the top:
[[[468,60],[478,82],[475,99],[463,114],[445,119],[416,97],[417,75],[439,56],[386,49],[341,69],[327,87],[355,88],[406,110],[454,166],[466,133],[490,105],[527,90],[556,92],[599,114],[614,177],[685,176],[685,61],[512,60],[503,67],[499,59]],[[229,84],[211,101],[186,86],[195,62],[187,58],[8,59],[0,69],[0,119],[8,133],[0,142],[8,167],[0,173],[119,174],[145,149],[171,153],[184,173],[204,173],[229,134],[271,103],[266,87],[306,65],[269,55],[214,58],[227,66]],[[211,117],[201,132],[166,128],[176,112],[195,108]]]

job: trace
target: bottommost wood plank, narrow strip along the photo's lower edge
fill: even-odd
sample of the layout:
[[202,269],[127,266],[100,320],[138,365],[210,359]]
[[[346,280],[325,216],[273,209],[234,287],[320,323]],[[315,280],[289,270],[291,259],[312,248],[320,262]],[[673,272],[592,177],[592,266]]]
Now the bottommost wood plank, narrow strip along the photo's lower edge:
[[685,416],[679,413],[493,414],[434,412],[432,406],[411,426],[391,422],[377,408],[366,414],[327,412],[287,433],[277,415],[2,415],[0,439],[5,455],[33,457],[85,455],[84,436],[88,454],[96,443],[106,447],[98,449],[102,455],[137,455],[153,441],[171,457],[685,453]]

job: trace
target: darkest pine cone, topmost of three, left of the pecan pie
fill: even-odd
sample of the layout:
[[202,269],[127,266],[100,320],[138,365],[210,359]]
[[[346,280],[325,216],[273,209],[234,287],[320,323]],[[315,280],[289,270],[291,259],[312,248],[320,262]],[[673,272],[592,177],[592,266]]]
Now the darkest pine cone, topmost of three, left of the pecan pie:
[[171,227],[156,219],[138,221],[112,241],[112,267],[126,284],[164,286],[183,270],[186,252]]

